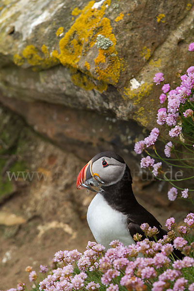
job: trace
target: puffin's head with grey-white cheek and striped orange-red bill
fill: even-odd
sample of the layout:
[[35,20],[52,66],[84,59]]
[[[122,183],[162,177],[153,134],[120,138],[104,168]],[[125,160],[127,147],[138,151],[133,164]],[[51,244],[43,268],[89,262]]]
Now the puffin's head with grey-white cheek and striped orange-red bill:
[[[119,182],[129,170],[124,160],[114,152],[101,152],[90,160],[80,171],[77,178],[77,188],[86,188],[93,192],[92,186],[111,186]],[[130,176],[130,171],[129,175]],[[132,182],[131,176],[130,180]]]

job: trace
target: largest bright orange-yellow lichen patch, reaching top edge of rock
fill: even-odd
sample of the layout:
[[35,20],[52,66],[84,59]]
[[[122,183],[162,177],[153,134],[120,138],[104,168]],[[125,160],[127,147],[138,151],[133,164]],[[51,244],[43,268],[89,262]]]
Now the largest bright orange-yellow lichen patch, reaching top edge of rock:
[[113,42],[108,49],[98,49],[95,59],[97,79],[115,84],[120,76],[121,63],[115,50],[116,39],[112,33],[110,20],[103,18],[107,5],[111,0],[105,0],[101,7],[92,9],[95,1],[90,1],[83,8],[80,16],[59,42],[60,53],[53,51],[52,56],[58,58],[62,65],[79,68],[81,55],[93,47],[97,35],[101,34]]

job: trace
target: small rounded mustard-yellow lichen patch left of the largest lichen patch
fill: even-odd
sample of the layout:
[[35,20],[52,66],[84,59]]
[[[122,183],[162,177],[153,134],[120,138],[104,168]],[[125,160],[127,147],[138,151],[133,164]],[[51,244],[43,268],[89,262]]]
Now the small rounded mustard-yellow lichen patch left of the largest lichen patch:
[[22,55],[25,59],[27,59],[30,65],[36,66],[36,68],[37,66],[40,66],[41,68],[49,68],[52,65],[56,65],[58,60],[56,57],[50,56],[48,48],[43,45],[41,49],[44,57],[39,55],[38,49],[36,49],[33,45],[27,46],[23,50]]

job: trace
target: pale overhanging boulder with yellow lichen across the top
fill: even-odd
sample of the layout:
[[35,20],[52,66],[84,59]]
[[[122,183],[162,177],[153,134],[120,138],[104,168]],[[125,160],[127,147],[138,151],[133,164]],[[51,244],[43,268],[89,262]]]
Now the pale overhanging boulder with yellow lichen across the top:
[[[7,97],[111,111],[147,128],[162,71],[173,86],[192,64],[193,0],[2,0],[0,90]],[[113,42],[95,45],[97,35]]]

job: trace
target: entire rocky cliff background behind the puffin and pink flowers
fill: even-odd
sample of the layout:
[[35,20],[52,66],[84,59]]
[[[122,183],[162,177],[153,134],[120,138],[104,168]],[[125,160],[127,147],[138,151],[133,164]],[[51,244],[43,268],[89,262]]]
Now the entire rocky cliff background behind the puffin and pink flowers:
[[[154,75],[173,88],[193,65],[193,2],[0,1],[0,289],[93,240],[93,194],[75,183],[97,152],[124,157],[138,200],[162,224],[191,210],[140,171],[133,147],[156,126]],[[112,45],[98,47],[99,34]]]

